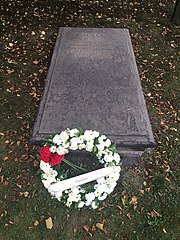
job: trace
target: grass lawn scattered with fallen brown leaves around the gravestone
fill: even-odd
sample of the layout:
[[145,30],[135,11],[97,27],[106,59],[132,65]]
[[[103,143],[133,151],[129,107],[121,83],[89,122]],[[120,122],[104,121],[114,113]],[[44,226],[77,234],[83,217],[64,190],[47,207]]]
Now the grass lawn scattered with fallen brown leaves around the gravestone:
[[[1,0],[0,240],[178,240],[179,27],[174,0]],[[128,28],[157,148],[97,210],[42,186],[29,146],[59,27]],[[52,218],[53,228],[45,220]]]

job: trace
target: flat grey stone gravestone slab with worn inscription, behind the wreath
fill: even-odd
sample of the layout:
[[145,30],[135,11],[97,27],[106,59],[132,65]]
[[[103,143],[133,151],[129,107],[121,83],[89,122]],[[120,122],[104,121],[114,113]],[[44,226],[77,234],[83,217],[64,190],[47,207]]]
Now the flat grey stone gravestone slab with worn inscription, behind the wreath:
[[126,156],[155,146],[127,29],[60,28],[30,142],[75,127]]

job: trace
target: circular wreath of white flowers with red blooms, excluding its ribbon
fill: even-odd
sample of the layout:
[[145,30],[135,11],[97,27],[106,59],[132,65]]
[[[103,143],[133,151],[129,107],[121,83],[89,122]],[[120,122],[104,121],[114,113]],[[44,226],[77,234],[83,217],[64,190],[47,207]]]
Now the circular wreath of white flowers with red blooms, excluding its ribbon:
[[[75,186],[64,191],[54,191],[51,186],[67,179],[68,169],[83,169],[65,159],[69,150],[85,150],[91,152],[98,160],[98,165],[111,167],[109,175],[92,182]],[[66,129],[60,134],[50,136],[40,149],[41,179],[45,188],[53,198],[62,201],[67,207],[89,206],[97,208],[114,190],[120,176],[120,156],[115,145],[105,136],[93,130]]]

